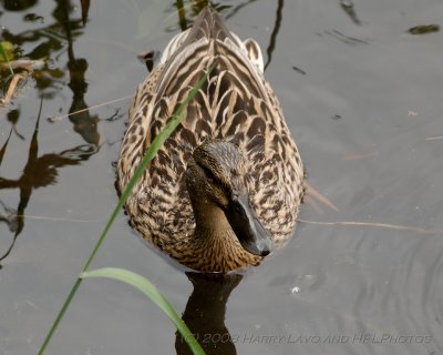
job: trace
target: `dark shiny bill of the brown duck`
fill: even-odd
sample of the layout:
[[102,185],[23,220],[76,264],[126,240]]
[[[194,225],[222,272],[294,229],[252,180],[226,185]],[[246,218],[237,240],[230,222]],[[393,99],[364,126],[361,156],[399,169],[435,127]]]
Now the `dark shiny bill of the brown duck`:
[[246,194],[233,197],[225,214],[246,251],[259,256],[266,256],[271,252],[272,240],[250,209],[249,199]]

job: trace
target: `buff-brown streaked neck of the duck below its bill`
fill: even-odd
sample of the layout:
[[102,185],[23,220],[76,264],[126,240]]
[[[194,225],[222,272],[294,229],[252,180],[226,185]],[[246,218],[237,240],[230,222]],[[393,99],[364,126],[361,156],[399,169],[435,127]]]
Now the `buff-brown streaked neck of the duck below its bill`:
[[227,272],[258,264],[260,257],[241,246],[222,209],[199,200],[193,202],[193,210],[196,222],[192,239],[195,258],[189,267]]

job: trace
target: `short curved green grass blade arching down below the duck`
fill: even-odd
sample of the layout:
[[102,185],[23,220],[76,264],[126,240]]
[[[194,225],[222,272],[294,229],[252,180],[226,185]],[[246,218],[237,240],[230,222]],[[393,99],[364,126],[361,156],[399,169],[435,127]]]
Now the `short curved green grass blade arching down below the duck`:
[[171,305],[171,303],[159,293],[157,287],[155,287],[145,277],[133,273],[131,271],[124,268],[115,268],[115,267],[104,267],[99,270],[93,270],[90,272],[84,272],[80,275],[82,278],[91,278],[91,277],[106,277],[122,281],[126,284],[138,288],[143,292],[152,302],[154,302],[158,308],[161,308],[169,320],[175,324],[178,332],[182,334],[183,338],[189,345],[190,349],[195,355],[204,355],[202,346],[198,344],[196,338],[190,333],[189,328],[182,321],[177,312]]

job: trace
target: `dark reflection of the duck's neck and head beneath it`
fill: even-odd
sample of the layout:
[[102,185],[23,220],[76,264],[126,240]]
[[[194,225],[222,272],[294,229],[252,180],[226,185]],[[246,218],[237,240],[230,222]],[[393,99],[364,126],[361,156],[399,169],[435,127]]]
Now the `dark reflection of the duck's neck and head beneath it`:
[[[183,322],[202,345],[206,354],[237,354],[229,331],[225,325],[226,303],[233,290],[240,283],[238,274],[186,273],[194,291],[187,301]],[[177,332],[175,349],[178,355],[192,354]]]

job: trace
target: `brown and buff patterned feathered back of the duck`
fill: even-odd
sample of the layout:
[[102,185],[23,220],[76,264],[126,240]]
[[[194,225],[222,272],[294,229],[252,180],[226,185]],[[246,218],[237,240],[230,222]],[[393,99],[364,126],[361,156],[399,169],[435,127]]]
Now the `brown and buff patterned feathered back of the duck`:
[[276,244],[290,236],[302,196],[301,161],[262,77],[260,49],[254,40],[241,42],[229,32],[210,8],[169,42],[159,65],[138,87],[119,160],[120,190],[209,65],[208,81],[126,203],[134,226],[173,256],[195,227],[186,164],[195,146],[207,140],[229,140],[244,150],[253,209]]

